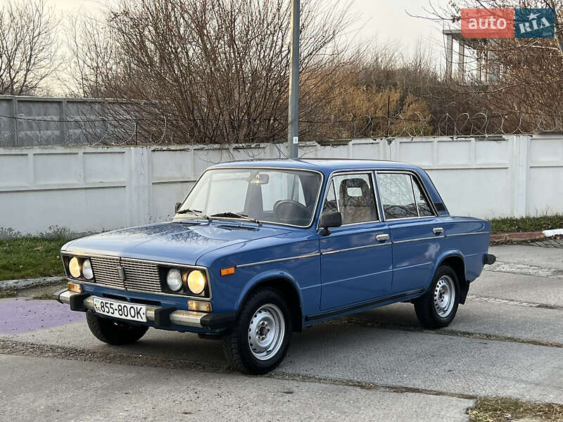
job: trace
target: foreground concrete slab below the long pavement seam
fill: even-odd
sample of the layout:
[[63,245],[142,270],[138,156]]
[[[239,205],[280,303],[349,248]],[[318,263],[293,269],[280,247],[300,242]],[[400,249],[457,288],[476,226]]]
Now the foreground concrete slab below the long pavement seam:
[[[473,403],[346,385],[37,357],[0,355],[0,366],[0,395],[11,397],[0,409],[4,421],[139,421],[155,415],[163,421],[464,421]],[[46,394],[38,397],[37,391]],[[439,417],[435,409],[443,409]]]

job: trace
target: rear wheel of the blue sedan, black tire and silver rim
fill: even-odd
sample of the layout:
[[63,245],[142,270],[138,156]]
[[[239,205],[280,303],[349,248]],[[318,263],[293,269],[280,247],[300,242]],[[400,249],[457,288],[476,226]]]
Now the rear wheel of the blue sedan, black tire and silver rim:
[[[443,286],[448,286],[450,281],[453,283],[454,298],[451,305],[445,306],[445,300],[441,300],[445,296]],[[438,283],[440,283],[440,286],[438,286]],[[437,303],[435,303],[435,299]],[[424,295],[415,300],[415,312],[424,328],[443,328],[453,321],[458,305],[460,305],[460,282],[451,267],[441,265],[434,274],[430,288]]]

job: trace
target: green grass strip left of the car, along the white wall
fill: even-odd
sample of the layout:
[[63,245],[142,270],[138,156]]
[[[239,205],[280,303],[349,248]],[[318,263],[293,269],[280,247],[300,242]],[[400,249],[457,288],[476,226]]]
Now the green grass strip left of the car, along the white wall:
[[59,251],[67,241],[27,236],[0,240],[0,280],[63,276]]

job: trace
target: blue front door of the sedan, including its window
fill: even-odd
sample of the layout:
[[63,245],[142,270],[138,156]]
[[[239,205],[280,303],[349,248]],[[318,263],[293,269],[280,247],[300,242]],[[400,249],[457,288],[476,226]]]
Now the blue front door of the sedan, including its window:
[[339,211],[342,226],[320,236],[320,309],[346,307],[391,292],[391,239],[379,219],[372,172],[336,174],[322,212]]

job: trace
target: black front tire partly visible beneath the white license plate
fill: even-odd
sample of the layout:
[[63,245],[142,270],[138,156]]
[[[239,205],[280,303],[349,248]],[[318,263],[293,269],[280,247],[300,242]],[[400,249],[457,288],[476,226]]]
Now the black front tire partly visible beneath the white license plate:
[[86,313],[86,321],[94,337],[108,345],[130,345],[139,340],[148,330],[148,326],[103,318],[93,312]]

